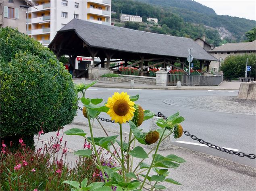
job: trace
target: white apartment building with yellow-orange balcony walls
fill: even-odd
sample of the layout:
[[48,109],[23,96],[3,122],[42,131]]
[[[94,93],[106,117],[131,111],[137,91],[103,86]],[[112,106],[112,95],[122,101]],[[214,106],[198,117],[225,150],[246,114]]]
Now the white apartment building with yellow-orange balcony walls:
[[73,18],[110,25],[111,0],[31,0],[29,36],[48,46]]

